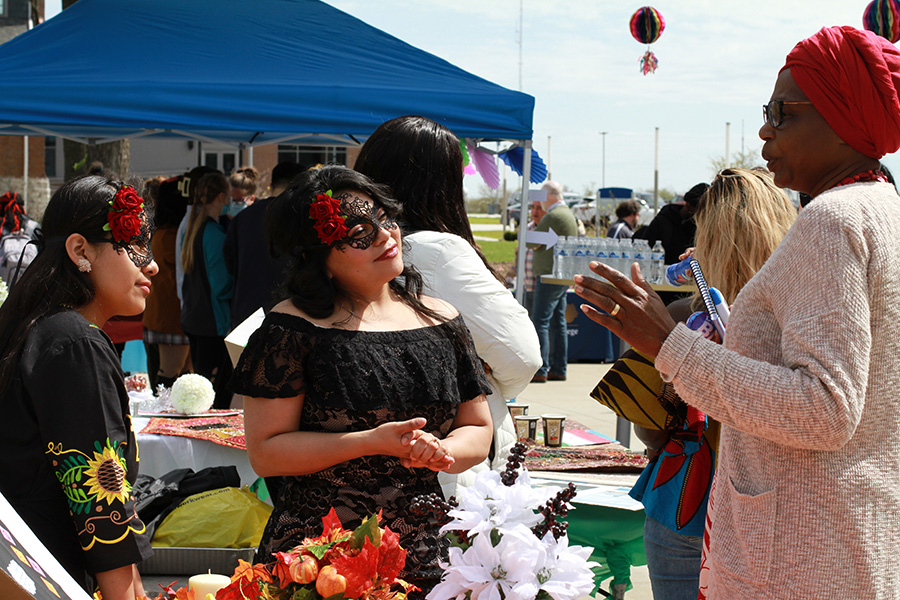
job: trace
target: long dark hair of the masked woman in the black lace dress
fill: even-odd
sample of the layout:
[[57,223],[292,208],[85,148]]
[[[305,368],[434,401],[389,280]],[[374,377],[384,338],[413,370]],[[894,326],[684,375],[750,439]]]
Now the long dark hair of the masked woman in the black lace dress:
[[[325,259],[332,248],[319,241],[314,222],[309,217],[309,206],[316,195],[328,190],[332,190],[334,196],[343,191],[362,192],[384,208],[388,215],[396,217],[400,212],[399,205],[391,199],[386,186],[340,166],[326,166],[300,174],[288,189],[272,201],[266,214],[270,250],[274,256],[291,257],[279,295],[281,299],[290,299],[294,306],[316,319],[331,316],[335,301],[342,293],[328,277],[325,268]],[[415,269],[404,267],[401,275],[389,285],[403,302],[419,314],[439,322],[446,321],[440,313],[422,303],[422,276]]]

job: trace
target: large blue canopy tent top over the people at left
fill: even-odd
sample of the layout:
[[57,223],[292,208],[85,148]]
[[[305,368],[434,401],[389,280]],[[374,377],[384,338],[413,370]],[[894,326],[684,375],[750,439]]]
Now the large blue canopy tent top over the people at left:
[[534,111],[319,0],[80,0],[0,46],[0,89],[0,135],[83,143],[358,144],[419,114],[530,149]]

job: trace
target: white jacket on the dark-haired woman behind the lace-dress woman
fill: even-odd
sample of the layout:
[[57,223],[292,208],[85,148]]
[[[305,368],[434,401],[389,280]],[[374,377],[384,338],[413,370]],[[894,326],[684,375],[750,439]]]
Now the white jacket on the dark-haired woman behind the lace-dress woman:
[[488,396],[494,421],[493,460],[459,475],[440,474],[446,497],[474,481],[487,468],[506,468],[516,442],[506,401],[515,398],[541,367],[541,347],[525,308],[484,266],[469,243],[458,235],[418,231],[403,238],[403,261],[412,264],[425,283],[425,293],[449,302],[472,333],[478,355],[491,369]]

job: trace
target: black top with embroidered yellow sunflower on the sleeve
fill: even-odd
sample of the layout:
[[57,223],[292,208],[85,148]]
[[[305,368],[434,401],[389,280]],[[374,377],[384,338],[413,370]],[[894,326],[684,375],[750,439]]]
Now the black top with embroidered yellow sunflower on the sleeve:
[[137,445],[119,357],[73,310],[41,319],[3,398],[0,491],[86,590],[152,554],[134,509]]

